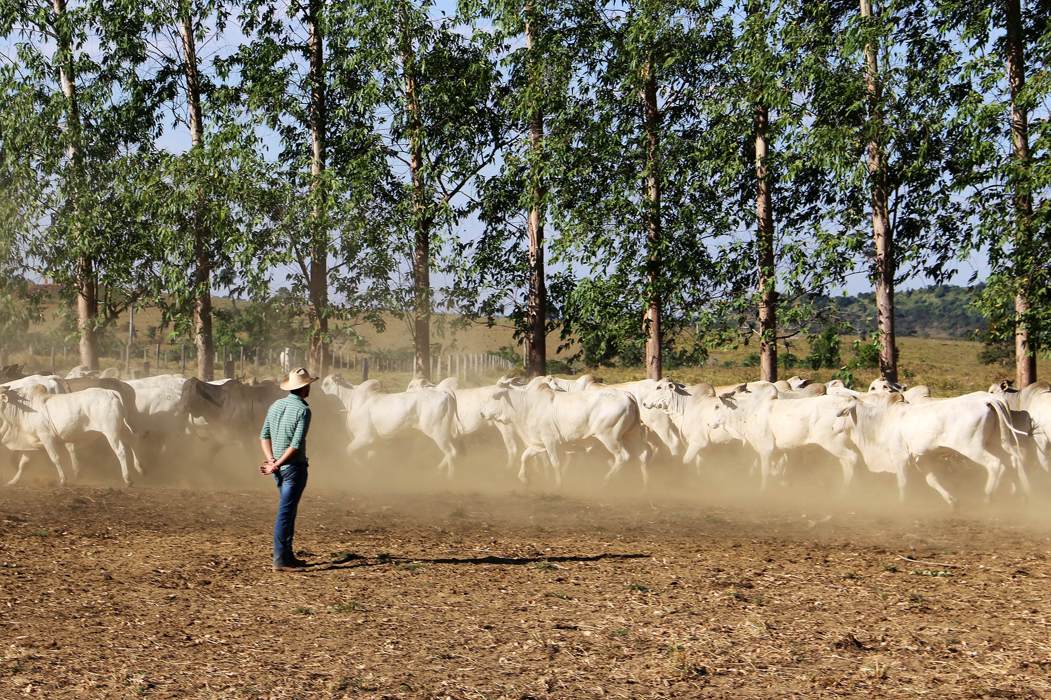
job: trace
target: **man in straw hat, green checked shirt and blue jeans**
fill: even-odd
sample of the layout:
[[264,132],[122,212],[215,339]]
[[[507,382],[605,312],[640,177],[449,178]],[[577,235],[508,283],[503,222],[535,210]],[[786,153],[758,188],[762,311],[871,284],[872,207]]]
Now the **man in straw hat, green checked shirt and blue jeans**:
[[[281,388],[288,391],[277,399],[266,413],[260,443],[266,462],[260,467],[264,474],[273,474],[281,501],[277,519],[273,524],[273,570],[297,571],[307,566],[295,558],[292,535],[295,534],[295,513],[300,496],[307,485],[307,430],[310,429],[310,406],[304,401],[310,396],[310,385],[317,381],[303,367],[288,373]],[[274,452],[281,457],[274,459]]]

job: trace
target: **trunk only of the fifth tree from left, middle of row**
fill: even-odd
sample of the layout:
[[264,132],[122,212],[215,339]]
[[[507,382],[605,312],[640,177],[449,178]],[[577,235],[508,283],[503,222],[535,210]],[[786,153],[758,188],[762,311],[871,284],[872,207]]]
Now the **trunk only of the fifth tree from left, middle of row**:
[[[536,5],[526,5],[526,49],[530,52],[532,80],[543,80],[538,75],[536,44],[538,40]],[[538,94],[539,90],[532,90]],[[535,98],[533,98],[535,99]],[[526,320],[526,346],[529,348],[528,369],[531,377],[548,374],[548,287],[543,266],[543,198],[547,187],[540,175],[543,149],[543,110],[534,105],[529,119],[530,193],[529,210],[529,304]]]

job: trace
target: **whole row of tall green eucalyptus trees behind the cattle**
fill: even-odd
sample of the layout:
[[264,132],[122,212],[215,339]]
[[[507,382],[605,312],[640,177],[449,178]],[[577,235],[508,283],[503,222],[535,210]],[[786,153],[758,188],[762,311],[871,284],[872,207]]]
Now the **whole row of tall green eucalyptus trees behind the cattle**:
[[[310,365],[390,312],[510,316],[527,364],[778,339],[987,255],[1017,379],[1051,347],[1047,0],[14,0],[0,321],[46,279],[81,362],[128,305],[213,374],[210,295],[304,310]],[[185,143],[184,143],[185,142]],[[438,280],[435,282],[435,280]],[[1005,310],[1010,309],[1010,313]],[[556,338],[558,340],[556,341]]]

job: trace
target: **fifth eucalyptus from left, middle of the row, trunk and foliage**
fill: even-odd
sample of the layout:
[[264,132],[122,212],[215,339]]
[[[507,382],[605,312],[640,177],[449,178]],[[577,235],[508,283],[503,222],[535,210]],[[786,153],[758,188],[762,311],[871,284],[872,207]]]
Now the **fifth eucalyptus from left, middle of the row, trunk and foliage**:
[[[544,229],[554,156],[548,120],[564,109],[573,65],[572,0],[461,0],[474,40],[498,58],[503,91],[498,105],[498,171],[478,183],[476,240],[462,241],[453,298],[469,315],[510,311],[531,375],[547,374],[552,327]],[[569,29],[569,30],[568,30]],[[494,168],[494,170],[496,170]]]

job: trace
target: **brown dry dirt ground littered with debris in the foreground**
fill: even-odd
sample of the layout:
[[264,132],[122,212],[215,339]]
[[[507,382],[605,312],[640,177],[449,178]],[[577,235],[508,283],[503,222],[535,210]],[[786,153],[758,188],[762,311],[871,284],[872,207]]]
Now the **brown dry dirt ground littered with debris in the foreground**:
[[1039,508],[419,486],[0,489],[0,698],[1051,697]]

